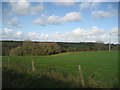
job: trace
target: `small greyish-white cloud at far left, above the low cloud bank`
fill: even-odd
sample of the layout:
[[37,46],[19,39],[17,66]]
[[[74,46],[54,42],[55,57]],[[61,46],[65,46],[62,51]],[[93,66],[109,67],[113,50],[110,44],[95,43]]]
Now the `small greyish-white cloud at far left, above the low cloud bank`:
[[14,18],[8,20],[6,24],[10,25],[10,26],[13,26],[13,27],[17,27],[17,28],[21,28],[22,27],[19,24],[19,19],[17,17],[14,17]]

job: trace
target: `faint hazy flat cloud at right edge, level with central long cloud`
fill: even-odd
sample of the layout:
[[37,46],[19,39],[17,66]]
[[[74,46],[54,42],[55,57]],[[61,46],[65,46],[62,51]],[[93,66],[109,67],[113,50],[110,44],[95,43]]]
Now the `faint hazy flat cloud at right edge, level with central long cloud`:
[[94,19],[104,19],[112,16],[117,16],[117,11],[92,11]]

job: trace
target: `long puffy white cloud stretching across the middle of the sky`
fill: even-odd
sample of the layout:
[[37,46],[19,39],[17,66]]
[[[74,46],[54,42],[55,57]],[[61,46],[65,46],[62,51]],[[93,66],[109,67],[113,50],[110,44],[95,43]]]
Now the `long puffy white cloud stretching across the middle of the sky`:
[[46,18],[37,18],[33,21],[33,24],[39,24],[41,26],[46,26],[48,24],[63,24],[65,22],[81,22],[83,17],[80,12],[70,12],[65,16],[49,16]]

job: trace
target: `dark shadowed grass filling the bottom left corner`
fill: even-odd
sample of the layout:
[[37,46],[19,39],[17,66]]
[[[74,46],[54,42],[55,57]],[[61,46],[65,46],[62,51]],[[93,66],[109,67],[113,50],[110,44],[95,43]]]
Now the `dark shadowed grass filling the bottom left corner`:
[[14,69],[3,68],[3,88],[64,88],[65,85],[45,77],[45,73],[21,72]]

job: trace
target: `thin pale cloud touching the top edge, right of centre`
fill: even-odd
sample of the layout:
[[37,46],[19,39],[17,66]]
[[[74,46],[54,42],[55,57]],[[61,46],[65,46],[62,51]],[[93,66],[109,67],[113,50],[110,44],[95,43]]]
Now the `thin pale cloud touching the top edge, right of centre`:
[[100,4],[100,2],[82,2],[80,5],[79,5],[79,8],[80,10],[83,10],[83,9],[88,9],[88,8],[96,8],[98,7]]

